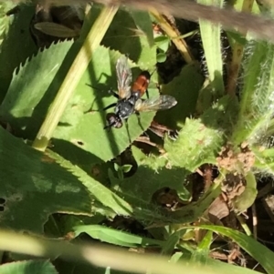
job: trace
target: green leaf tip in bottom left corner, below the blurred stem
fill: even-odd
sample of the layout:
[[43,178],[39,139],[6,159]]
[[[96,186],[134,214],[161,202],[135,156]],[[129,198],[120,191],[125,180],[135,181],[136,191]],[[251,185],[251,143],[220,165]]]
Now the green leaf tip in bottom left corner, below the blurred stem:
[[42,259],[5,263],[0,266],[0,272],[1,274],[58,274],[51,262]]

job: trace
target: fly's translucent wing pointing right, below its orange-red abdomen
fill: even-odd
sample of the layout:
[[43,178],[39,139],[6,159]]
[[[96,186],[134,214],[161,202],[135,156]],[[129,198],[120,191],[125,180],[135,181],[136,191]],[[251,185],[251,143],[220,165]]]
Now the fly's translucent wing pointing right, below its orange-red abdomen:
[[157,111],[169,109],[177,104],[173,96],[159,96],[146,100],[139,99],[135,104],[136,111]]

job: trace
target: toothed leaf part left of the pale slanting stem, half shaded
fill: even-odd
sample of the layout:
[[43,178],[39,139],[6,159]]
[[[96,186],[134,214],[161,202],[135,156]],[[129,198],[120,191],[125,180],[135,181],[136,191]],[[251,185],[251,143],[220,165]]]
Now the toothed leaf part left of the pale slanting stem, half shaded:
[[0,106],[0,117],[10,123],[21,137],[36,137],[60,85],[58,70],[72,44],[72,41],[66,41],[40,50],[37,56],[28,58],[25,65],[14,73]]

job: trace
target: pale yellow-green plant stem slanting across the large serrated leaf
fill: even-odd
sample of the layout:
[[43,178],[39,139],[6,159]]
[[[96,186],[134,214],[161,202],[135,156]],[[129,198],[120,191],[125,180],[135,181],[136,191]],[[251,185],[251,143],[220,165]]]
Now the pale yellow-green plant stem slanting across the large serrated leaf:
[[117,10],[118,5],[105,6],[95,23],[92,25],[83,46],[81,46],[78,55],[68,70],[64,82],[58,90],[58,95],[55,97],[52,107],[50,107],[47,117],[37,133],[37,137],[32,147],[45,151],[55,128],[58,126],[60,117],[62,117],[63,112],[68,105],[69,99],[73,95],[81,76],[90,64],[92,53],[100,45]]

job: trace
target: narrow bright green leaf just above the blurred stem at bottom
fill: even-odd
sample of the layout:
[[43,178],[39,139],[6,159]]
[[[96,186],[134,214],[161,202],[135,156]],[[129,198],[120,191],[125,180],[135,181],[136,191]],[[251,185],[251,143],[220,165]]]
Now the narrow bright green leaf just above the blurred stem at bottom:
[[107,242],[122,247],[161,247],[163,245],[163,241],[161,240],[144,238],[128,232],[120,231],[113,228],[106,228],[99,225],[78,226],[74,228],[74,232],[76,237],[79,236],[80,233],[84,232],[90,235],[91,238],[100,239],[100,241],[102,242]]

